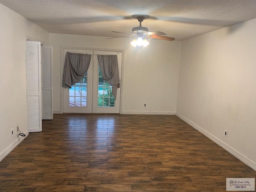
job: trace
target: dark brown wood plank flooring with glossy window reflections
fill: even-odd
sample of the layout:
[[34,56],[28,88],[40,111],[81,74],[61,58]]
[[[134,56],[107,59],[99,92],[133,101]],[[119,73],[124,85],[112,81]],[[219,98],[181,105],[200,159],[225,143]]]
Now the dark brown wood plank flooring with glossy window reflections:
[[54,114],[0,162],[1,192],[224,192],[256,172],[177,116]]

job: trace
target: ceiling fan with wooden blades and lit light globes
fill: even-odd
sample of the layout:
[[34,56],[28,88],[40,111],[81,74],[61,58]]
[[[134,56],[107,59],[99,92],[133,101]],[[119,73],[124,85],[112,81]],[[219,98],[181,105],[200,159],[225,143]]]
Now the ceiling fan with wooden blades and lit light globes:
[[[138,19],[138,22],[140,22],[140,26],[132,28],[132,33],[119,32],[119,31],[112,31],[112,32],[127,34],[125,36],[119,36],[119,37],[137,36],[131,42],[132,46],[134,46],[134,47],[142,46],[142,45],[144,47],[148,46],[149,42],[144,37],[154,38],[154,39],[161,39],[161,40],[168,40],[168,41],[175,40],[175,38],[173,38],[173,37],[162,36],[162,35],[166,35],[166,34],[163,33],[163,32],[160,32],[160,31],[148,32],[148,28],[142,27],[142,25],[141,25],[141,22],[145,19],[145,17],[144,16],[138,16],[137,19]],[[112,38],[108,38],[108,39],[119,38],[119,37],[112,37]]]

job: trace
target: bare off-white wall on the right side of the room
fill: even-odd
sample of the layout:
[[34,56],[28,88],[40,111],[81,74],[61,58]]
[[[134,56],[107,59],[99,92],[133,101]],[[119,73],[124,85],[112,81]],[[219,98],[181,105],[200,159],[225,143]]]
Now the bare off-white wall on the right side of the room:
[[178,116],[254,170],[255,32],[256,19],[183,41],[177,100]]

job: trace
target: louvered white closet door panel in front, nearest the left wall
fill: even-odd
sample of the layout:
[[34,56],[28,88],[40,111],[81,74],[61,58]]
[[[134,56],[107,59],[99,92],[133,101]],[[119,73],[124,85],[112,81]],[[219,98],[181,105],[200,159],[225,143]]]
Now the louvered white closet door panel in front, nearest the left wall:
[[42,131],[41,101],[41,45],[26,42],[28,131]]

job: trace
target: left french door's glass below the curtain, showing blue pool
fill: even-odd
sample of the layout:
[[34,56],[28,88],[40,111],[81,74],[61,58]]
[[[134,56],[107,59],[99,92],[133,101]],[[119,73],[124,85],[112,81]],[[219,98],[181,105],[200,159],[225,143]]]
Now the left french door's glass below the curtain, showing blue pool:
[[69,89],[69,107],[87,106],[87,72],[80,82]]

